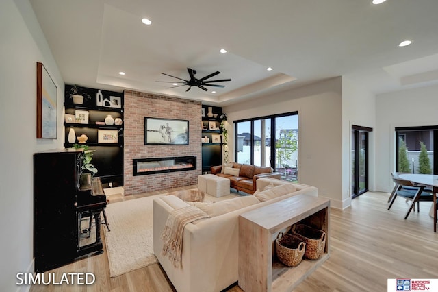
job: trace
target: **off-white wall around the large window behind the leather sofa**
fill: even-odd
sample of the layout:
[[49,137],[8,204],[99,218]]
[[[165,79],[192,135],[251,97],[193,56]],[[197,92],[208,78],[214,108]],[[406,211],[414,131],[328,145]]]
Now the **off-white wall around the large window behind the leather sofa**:
[[318,187],[321,197],[342,204],[342,79],[310,84],[261,99],[224,107],[229,129],[230,161],[234,160],[233,121],[298,111],[298,180]]

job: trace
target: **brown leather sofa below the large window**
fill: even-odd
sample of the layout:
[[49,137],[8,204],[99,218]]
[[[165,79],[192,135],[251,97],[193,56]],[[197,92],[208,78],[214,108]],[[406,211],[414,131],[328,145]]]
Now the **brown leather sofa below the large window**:
[[[227,167],[240,169],[238,175],[233,175],[227,172]],[[222,165],[211,167],[211,174],[218,175],[222,178],[230,180],[230,188],[235,188],[237,191],[253,194],[256,188],[256,180],[259,178],[277,178],[280,179],[280,173],[273,172],[272,167],[257,167],[255,165],[244,165],[231,162],[225,167]]]

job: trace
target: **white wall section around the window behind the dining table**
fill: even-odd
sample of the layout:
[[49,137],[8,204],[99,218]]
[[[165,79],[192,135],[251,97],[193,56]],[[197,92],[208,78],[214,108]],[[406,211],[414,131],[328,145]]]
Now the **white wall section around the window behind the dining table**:
[[395,128],[438,125],[438,85],[376,96],[376,191],[391,192]]

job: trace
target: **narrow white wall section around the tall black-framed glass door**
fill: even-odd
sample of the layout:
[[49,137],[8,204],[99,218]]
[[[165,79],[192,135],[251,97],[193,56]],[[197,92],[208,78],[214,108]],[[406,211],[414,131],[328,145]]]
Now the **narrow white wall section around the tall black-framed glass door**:
[[[376,98],[347,77],[342,77],[342,199],[344,206],[351,203],[351,125],[376,127]],[[368,136],[368,188],[375,190],[375,132]]]

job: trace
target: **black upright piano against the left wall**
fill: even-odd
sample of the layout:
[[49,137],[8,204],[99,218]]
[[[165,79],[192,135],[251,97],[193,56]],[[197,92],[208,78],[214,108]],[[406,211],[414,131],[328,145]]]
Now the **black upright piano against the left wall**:
[[85,247],[79,244],[78,215],[96,215],[97,219],[106,206],[99,180],[94,180],[97,184],[93,188],[90,175],[81,173],[82,155],[82,149],[34,154],[35,271],[47,271],[77,256],[102,251],[99,224],[96,241]]

